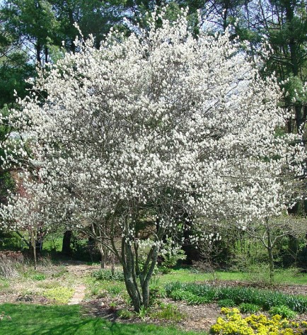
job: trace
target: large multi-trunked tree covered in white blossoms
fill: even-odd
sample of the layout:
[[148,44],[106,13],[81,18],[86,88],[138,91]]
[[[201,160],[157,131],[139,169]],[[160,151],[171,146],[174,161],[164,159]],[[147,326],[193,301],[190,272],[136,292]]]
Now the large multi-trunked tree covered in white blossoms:
[[261,79],[227,30],[195,39],[186,13],[162,15],[161,28],[157,19],[129,38],[111,32],[99,50],[81,40],[40,72],[11,113],[21,138],[6,148],[23,156],[32,195],[1,209],[4,227],[22,226],[33,199],[46,225],[99,226],[136,311],[149,305],[163,242],[199,217],[248,225],[280,212],[282,169],[300,174],[303,155],[287,145],[295,135],[275,136],[285,118],[277,82]]

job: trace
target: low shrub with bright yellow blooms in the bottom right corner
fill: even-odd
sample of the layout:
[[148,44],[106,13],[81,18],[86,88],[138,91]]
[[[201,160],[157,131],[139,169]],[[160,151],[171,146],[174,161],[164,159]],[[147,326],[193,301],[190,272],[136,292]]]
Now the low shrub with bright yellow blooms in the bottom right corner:
[[219,317],[210,328],[216,335],[303,335],[307,322],[289,322],[280,315],[269,318],[263,314],[242,317],[237,308],[221,308]]

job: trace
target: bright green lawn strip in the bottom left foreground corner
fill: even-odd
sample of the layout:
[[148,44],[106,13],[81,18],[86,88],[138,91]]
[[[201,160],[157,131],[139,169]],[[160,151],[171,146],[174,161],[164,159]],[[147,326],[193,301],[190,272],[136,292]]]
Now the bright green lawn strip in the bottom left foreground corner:
[[0,305],[11,317],[0,322],[0,335],[200,335],[154,324],[121,324],[83,317],[79,306]]

